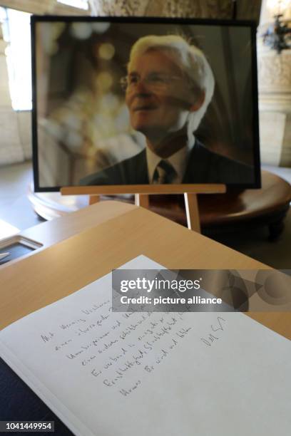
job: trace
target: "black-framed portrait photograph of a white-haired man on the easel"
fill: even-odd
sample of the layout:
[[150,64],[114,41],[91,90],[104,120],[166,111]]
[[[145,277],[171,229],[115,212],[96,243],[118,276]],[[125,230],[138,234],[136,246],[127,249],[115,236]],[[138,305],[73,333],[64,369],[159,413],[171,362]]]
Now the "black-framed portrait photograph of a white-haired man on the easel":
[[256,25],[32,16],[36,192],[260,187]]

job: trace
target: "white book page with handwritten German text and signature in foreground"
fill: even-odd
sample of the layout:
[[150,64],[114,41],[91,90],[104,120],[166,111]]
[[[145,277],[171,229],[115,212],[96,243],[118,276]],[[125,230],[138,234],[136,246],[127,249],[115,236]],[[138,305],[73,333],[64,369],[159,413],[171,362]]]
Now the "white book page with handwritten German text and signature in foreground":
[[290,434],[290,341],[242,313],[112,313],[111,274],[5,328],[0,355],[75,435]]

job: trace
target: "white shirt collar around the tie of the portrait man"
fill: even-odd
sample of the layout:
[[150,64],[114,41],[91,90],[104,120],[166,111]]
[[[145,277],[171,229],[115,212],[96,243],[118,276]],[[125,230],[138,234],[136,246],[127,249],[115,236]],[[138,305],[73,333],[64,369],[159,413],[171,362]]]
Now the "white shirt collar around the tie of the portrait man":
[[165,160],[169,162],[170,165],[175,170],[175,177],[173,178],[171,183],[181,183],[183,177],[185,175],[185,170],[188,164],[188,157],[190,155],[190,151],[195,145],[195,140],[190,145],[185,145],[185,147],[180,148],[178,152],[175,152],[173,155],[163,159],[162,157],[156,155],[149,147],[146,147],[146,161],[148,165],[148,180],[150,183],[153,183],[153,175],[157,165],[161,160]]

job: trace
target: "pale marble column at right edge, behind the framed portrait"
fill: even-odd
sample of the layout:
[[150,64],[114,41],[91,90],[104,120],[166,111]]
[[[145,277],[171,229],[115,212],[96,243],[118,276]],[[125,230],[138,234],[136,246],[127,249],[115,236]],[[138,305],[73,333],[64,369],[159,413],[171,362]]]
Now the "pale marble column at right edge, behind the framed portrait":
[[263,46],[262,33],[272,21],[264,0],[257,32],[261,161],[291,167],[291,50],[277,54]]

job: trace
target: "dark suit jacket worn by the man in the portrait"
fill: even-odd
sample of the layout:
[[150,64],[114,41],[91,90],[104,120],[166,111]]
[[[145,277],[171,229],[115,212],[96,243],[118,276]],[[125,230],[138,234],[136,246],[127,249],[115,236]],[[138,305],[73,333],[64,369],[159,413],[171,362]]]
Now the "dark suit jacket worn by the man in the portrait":
[[[253,167],[208,150],[195,140],[182,183],[247,184],[255,181]],[[81,185],[148,185],[146,149],[138,155],[83,177]]]

